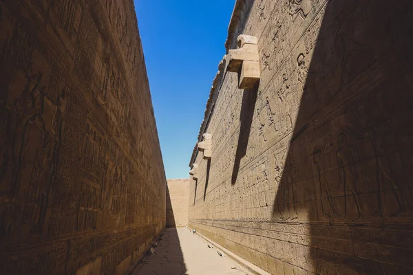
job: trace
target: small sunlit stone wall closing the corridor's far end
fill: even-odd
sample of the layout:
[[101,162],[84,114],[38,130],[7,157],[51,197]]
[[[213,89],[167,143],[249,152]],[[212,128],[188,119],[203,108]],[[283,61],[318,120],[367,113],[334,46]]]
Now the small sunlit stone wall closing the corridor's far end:
[[167,228],[188,224],[189,179],[168,179]]

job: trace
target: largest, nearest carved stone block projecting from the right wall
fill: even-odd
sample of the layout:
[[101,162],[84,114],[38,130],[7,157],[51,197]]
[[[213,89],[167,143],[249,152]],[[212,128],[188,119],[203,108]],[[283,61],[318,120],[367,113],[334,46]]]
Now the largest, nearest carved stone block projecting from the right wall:
[[260,54],[257,44],[257,37],[241,34],[237,38],[238,48],[229,50],[226,55],[225,70],[238,73],[240,89],[251,89],[260,82]]

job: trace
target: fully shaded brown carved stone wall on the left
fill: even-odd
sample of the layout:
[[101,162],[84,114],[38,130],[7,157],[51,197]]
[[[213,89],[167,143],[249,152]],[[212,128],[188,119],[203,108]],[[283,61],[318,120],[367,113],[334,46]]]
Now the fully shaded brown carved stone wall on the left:
[[165,227],[131,0],[0,1],[0,269],[123,274]]

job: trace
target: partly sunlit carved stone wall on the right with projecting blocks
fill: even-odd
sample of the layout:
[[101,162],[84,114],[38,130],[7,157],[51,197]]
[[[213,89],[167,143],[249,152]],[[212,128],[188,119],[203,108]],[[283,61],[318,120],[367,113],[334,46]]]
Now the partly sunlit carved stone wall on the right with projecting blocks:
[[260,85],[220,65],[189,226],[271,274],[412,274],[411,5],[238,0]]

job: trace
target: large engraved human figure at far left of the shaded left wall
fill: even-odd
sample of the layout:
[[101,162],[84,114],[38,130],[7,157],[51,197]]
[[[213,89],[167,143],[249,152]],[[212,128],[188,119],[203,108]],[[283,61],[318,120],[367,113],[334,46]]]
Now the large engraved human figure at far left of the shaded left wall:
[[[11,218],[13,221],[8,222],[8,227],[13,228],[21,221],[24,226],[19,228],[19,232],[31,230],[33,214],[35,216],[44,204],[41,199],[43,192],[39,190],[39,173],[50,137],[43,119],[45,93],[41,86],[42,78],[42,72],[28,72],[20,97],[7,104],[2,114],[2,123],[6,124],[5,133],[9,137],[1,137],[1,191],[10,201],[16,198],[26,199],[25,209],[15,208]],[[13,142],[17,144],[14,145]],[[26,181],[30,184],[21,186]]]

